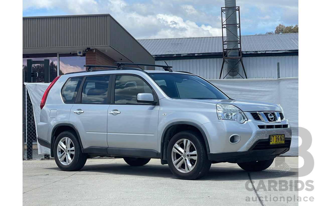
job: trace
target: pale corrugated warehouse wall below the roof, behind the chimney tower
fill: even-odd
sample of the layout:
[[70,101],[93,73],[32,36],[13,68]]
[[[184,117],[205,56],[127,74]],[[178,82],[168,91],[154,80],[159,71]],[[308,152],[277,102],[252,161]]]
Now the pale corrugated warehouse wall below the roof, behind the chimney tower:
[[[173,71],[191,72],[205,79],[219,79],[222,61],[222,58],[166,60]],[[277,79],[277,62],[280,63],[280,78],[299,76],[299,56],[243,57],[248,79]],[[155,61],[155,64],[165,65],[164,61]],[[242,69],[240,74],[245,77]],[[226,64],[221,78],[225,75]]]

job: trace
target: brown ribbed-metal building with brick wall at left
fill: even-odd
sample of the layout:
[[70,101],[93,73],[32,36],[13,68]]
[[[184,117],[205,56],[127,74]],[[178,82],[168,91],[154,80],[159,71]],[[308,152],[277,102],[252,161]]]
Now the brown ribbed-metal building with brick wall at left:
[[[27,65],[27,59],[49,59],[57,67],[56,73],[50,72],[50,80],[83,71],[85,64],[155,63],[154,57],[109,14],[22,17],[22,32],[22,64]],[[37,82],[34,76],[28,82]]]

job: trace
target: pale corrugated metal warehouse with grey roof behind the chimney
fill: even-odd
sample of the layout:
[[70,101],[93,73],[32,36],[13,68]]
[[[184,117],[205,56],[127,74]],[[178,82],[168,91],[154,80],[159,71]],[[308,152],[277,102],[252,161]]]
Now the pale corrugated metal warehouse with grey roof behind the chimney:
[[[225,41],[226,37],[223,39]],[[164,64],[166,61],[173,66],[173,71],[192,72],[205,79],[219,79],[223,62],[221,36],[141,39],[138,42],[155,57],[155,64]],[[298,33],[244,35],[241,36],[241,42],[248,79],[277,79],[278,62],[280,78],[298,77]],[[239,71],[244,76],[243,70]],[[226,74],[225,64],[222,77]],[[225,79],[231,78],[241,79],[239,75],[227,75]]]

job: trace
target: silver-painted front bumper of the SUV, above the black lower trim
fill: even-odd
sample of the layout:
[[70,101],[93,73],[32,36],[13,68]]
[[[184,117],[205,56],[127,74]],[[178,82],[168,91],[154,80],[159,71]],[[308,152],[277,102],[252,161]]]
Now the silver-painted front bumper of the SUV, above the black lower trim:
[[[211,156],[222,153],[248,152],[256,145],[257,141],[269,141],[270,135],[284,134],[285,139],[290,139],[290,141],[292,138],[292,130],[288,120],[265,123],[248,117],[248,120],[243,124],[233,120],[219,120],[218,122],[205,123],[201,127],[208,140],[210,149],[208,153],[213,153]],[[239,136],[239,141],[230,141],[230,137],[234,135]]]

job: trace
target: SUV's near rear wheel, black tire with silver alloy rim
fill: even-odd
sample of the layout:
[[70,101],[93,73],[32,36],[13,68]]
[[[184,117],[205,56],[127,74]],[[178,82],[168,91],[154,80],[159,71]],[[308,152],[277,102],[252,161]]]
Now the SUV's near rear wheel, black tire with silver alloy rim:
[[[67,140],[66,138],[69,138],[68,142],[71,140],[71,143],[69,144],[70,145],[69,149],[74,148],[74,150],[68,150],[67,148],[67,150],[64,151],[63,149],[61,149],[61,147],[59,147],[59,151],[58,151],[58,143],[60,141],[62,141],[62,143],[66,142]],[[82,153],[81,147],[77,138],[77,134],[71,130],[64,131],[57,136],[53,150],[54,150],[54,157],[55,157],[56,164],[63,171],[80,170],[87,161],[87,154]],[[65,158],[63,158],[64,153],[65,153]],[[74,154],[71,154],[71,153],[74,153]],[[62,158],[60,158],[60,160],[58,155],[59,156],[62,155]],[[69,158],[67,161],[67,156],[71,158],[71,161],[69,160]]]

